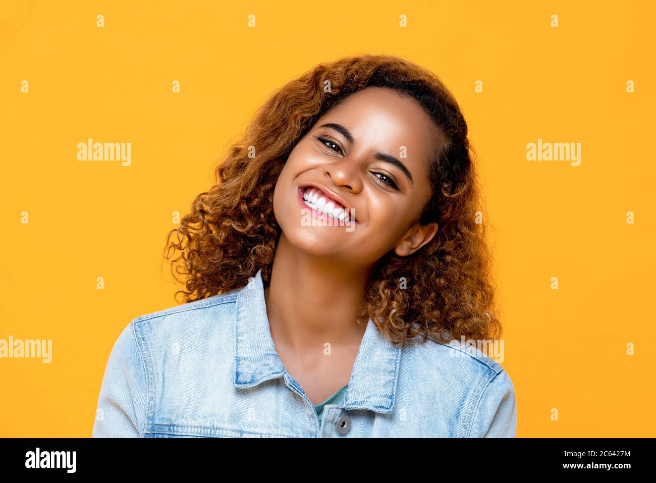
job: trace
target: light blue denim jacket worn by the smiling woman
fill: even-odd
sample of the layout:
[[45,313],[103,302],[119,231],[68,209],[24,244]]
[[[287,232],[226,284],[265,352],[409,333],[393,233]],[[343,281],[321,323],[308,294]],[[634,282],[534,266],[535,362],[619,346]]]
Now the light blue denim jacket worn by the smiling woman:
[[[455,354],[455,356],[454,356]],[[241,289],[134,318],[112,348],[93,437],[514,437],[510,377],[475,347],[396,347],[371,319],[319,424],[269,331],[261,270]]]

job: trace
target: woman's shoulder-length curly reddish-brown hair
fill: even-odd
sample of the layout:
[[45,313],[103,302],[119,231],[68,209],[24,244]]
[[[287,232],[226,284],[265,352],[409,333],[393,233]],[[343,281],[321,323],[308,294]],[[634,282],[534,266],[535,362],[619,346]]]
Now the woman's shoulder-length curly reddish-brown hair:
[[[273,193],[287,157],[319,117],[369,86],[415,98],[439,128],[440,147],[428,165],[432,195],[419,217],[423,226],[437,222],[438,232],[412,255],[391,250],[377,261],[356,322],[371,318],[394,344],[419,334],[422,342],[441,343],[501,335],[467,124],[437,75],[389,55],[319,64],[270,96],[218,163],[215,185],[194,199],[191,213],[167,234],[164,257],[180,251],[171,272],[186,287],[174,298],[183,293],[188,303],[226,293],[246,285],[260,268],[262,282],[270,282],[281,234]],[[172,234],[177,242],[169,241]],[[400,280],[407,286],[400,288]]]

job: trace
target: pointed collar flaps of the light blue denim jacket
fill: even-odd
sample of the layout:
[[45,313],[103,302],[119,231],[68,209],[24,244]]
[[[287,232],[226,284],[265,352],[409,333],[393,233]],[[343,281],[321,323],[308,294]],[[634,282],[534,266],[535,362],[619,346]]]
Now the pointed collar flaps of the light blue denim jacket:
[[[262,381],[290,376],[271,337],[264,301],[262,269],[237,291],[234,387],[254,387]],[[346,410],[391,413],[396,395],[401,345],[380,334],[371,318],[360,343],[346,388]]]

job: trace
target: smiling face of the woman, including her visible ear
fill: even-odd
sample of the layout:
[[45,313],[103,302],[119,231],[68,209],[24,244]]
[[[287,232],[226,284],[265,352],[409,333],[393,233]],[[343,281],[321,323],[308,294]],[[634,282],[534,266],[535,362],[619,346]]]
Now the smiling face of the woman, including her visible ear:
[[[310,255],[355,266],[371,266],[392,249],[417,251],[437,230],[415,226],[430,198],[427,168],[437,139],[413,98],[386,87],[348,96],[289,154],[274,190],[282,236]],[[343,213],[350,219],[340,221]]]

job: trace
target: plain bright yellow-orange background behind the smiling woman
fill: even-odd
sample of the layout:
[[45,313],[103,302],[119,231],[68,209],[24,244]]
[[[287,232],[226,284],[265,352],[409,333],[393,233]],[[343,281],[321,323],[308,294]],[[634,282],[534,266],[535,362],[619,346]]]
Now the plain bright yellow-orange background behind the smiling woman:
[[[647,1],[3,2],[0,339],[52,339],[53,360],[0,359],[0,436],[91,436],[119,333],[177,305],[162,264],[173,211],[211,186],[274,89],[354,53],[430,68],[468,121],[517,436],[654,436],[654,14]],[[77,161],[89,137],[131,142],[132,165]],[[581,142],[581,165],[527,161],[537,138]]]

